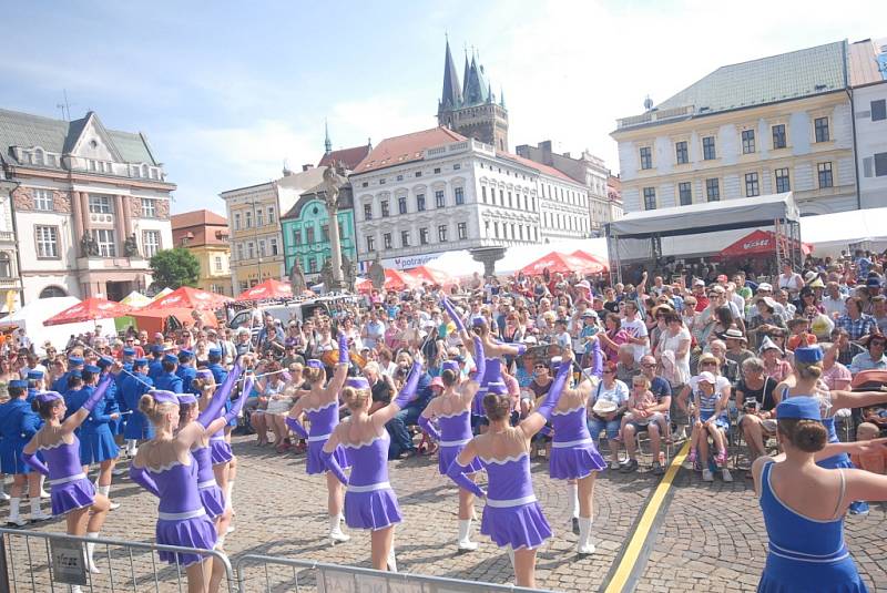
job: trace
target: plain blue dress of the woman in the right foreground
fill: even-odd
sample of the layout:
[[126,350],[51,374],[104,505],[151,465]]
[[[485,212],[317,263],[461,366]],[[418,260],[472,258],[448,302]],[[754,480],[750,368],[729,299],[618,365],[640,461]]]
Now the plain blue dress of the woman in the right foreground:
[[[786,507],[773,491],[767,462],[761,472],[761,510],[769,538],[769,551],[757,591],[761,593],[865,593],[844,543],[844,518],[808,519]],[[842,498],[844,498],[844,473]]]

